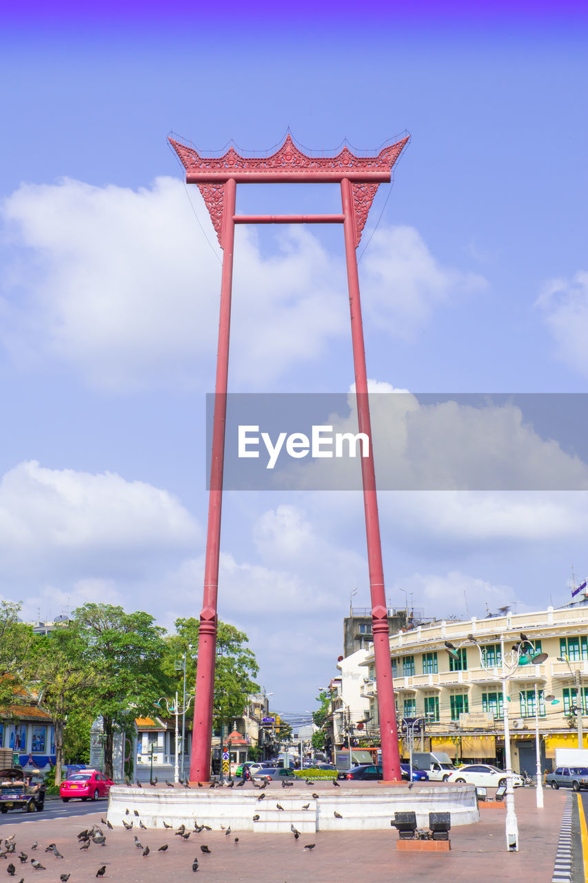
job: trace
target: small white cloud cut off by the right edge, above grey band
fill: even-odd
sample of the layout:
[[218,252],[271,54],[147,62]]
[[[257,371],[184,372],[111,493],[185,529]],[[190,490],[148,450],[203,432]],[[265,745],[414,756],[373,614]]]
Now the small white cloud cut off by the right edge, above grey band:
[[550,279],[537,299],[555,343],[558,358],[588,374],[588,272],[571,279]]

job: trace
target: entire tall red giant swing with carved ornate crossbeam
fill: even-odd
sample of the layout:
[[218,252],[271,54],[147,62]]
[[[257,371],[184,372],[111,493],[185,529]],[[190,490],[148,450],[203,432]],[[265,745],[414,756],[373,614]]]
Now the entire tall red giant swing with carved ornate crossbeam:
[[[366,350],[359,300],[356,249],[379,185],[388,183],[392,167],[408,137],[383,147],[377,155],[357,156],[348,147],[336,155],[302,153],[290,132],[271,155],[242,156],[234,147],[222,156],[201,156],[193,147],[170,139],[185,167],[186,184],[195,184],[207,205],[222,248],[221,306],[216,356],[215,412],[208,500],[207,550],[192,731],[191,781],[207,781],[215,685],[218,570],[221,537],[222,473],[229,372],[230,301],[235,225],[238,223],[341,223],[351,312],[351,342],[358,401],[358,429],[369,438],[369,456],[361,457],[366,517],[367,561],[372,601],[373,648],[380,716],[384,781],[400,781],[396,710],[388,641],[388,608],[381,560],[380,520],[373,468],[372,427],[367,396]],[[237,184],[340,184],[340,215],[237,215]]]

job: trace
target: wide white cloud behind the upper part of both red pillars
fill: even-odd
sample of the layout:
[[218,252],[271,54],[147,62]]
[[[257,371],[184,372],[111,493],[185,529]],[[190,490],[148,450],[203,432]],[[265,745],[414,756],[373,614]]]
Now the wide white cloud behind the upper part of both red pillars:
[[[136,192],[64,179],[21,185],[4,200],[11,242],[26,248],[15,250],[0,301],[12,358],[57,360],[98,388],[206,386],[220,264],[207,209],[191,195],[209,242],[184,185],[169,177]],[[237,228],[236,242],[237,383],[268,388],[349,335],[343,260],[300,226],[281,230],[270,256],[253,229]],[[411,334],[435,306],[485,284],[442,267],[405,227],[377,230],[361,271],[365,308],[392,336]]]

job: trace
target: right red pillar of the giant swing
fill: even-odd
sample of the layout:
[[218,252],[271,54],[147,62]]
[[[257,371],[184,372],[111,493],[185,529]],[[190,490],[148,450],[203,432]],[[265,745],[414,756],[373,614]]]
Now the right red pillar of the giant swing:
[[341,182],[343,202],[343,232],[345,237],[345,260],[349,286],[351,312],[351,342],[353,344],[353,367],[355,392],[358,401],[359,432],[369,439],[369,457],[361,457],[361,481],[364,491],[366,516],[367,564],[370,574],[372,599],[373,651],[375,655],[378,711],[380,715],[381,762],[384,781],[400,780],[400,757],[396,732],[396,707],[392,683],[392,662],[388,634],[388,607],[384,587],[384,569],[381,561],[380,518],[376,494],[375,470],[373,468],[372,421],[367,396],[366,350],[364,329],[361,321],[359,300],[358,260],[356,253],[356,225],[353,192],[349,178]]

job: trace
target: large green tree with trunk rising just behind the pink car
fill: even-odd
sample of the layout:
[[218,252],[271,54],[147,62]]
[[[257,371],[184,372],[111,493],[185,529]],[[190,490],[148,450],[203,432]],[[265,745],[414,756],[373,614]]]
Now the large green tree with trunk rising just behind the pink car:
[[162,672],[164,630],[147,613],[129,614],[110,604],[85,604],[74,611],[74,620],[85,643],[85,662],[101,675],[91,707],[102,716],[104,772],[112,778],[115,732],[132,728],[134,719],[152,711],[170,689]]

